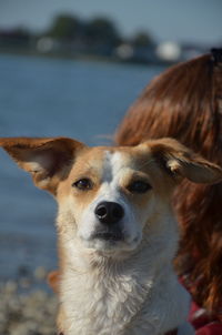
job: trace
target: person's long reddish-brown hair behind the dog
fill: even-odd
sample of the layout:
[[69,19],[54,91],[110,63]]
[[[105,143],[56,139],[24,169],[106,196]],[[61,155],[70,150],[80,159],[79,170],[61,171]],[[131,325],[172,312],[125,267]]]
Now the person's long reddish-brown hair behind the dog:
[[[171,136],[222,165],[222,63],[211,54],[174,65],[155,78],[115,133],[118,145]],[[176,257],[189,273],[193,298],[222,315],[222,183],[184,181],[174,195],[182,226]]]

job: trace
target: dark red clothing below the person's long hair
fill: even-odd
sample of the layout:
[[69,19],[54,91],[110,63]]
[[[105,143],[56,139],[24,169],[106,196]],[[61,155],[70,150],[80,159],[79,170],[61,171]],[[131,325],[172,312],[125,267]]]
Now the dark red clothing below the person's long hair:
[[222,335],[222,323],[209,316],[195,303],[191,305],[189,322],[195,328],[195,335]]

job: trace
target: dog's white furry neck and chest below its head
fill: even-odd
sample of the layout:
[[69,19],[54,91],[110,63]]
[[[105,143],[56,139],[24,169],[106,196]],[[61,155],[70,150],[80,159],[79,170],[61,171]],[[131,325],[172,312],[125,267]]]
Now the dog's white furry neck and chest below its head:
[[[167,236],[172,238],[168,233]],[[164,230],[162,234],[165,234]],[[121,253],[119,258],[117,255],[85,250],[78,238],[70,241],[70,231],[68,234],[64,231],[59,233],[60,300],[65,315],[65,328],[61,331],[65,335],[100,335],[103,334],[101,329],[105,328],[104,334],[143,335],[161,334],[162,331],[174,328],[176,325],[171,325],[172,319],[178,317],[180,322],[186,311],[180,311],[178,315],[179,305],[175,303],[172,308],[170,303],[173,291],[178,296],[183,295],[171,265],[178,245],[176,233],[172,235],[175,240],[165,240],[165,246],[159,234],[153,241],[149,236],[137,252]],[[137,325],[144,317],[144,308],[145,315],[149,315],[145,316],[148,321],[143,319],[143,323],[149,322],[147,333]],[[173,315],[170,319],[169,313],[178,316]]]

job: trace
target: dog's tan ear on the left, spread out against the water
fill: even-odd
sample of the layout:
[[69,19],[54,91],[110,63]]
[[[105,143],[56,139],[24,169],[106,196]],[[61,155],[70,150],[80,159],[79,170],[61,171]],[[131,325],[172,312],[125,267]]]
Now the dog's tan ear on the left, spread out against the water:
[[31,173],[38,187],[56,193],[59,180],[65,177],[77,152],[85,145],[67,138],[6,138],[0,139],[0,146]]

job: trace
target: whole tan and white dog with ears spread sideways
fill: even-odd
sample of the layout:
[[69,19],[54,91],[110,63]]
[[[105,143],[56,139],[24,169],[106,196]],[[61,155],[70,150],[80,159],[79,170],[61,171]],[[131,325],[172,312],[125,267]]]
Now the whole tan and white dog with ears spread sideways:
[[183,179],[220,182],[220,166],[172,139],[89,148],[9,138],[0,145],[59,205],[60,334],[194,334],[172,265],[180,234],[170,200]]

